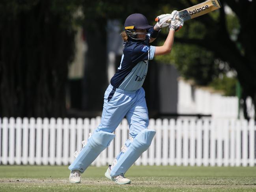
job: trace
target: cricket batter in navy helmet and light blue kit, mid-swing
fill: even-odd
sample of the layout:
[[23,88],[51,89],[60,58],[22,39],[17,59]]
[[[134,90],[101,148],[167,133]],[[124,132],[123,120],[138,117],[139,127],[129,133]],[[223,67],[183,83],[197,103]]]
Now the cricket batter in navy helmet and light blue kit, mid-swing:
[[[105,91],[100,125],[69,166],[71,183],[80,183],[81,173],[108,147],[123,117],[129,124],[130,139],[125,142],[112,165],[108,166],[105,176],[117,184],[131,183],[124,177],[126,171],[148,149],[155,136],[155,130],[148,129],[148,108],[142,88],[148,61],[171,52],[174,34],[183,26],[183,21],[177,20],[177,16],[178,11],[160,15],[155,26],[150,26],[146,17],[139,13],[129,15],[125,20],[121,33],[124,41],[121,63]],[[164,27],[169,29],[164,45],[151,46],[150,43]]]

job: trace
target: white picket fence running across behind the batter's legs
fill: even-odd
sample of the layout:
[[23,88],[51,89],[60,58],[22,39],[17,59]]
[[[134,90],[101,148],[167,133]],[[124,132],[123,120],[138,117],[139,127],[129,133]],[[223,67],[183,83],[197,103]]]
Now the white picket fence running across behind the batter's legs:
[[[82,140],[97,127],[93,119],[0,118],[0,164],[68,165]],[[150,119],[157,131],[136,165],[255,166],[255,121],[235,119]],[[93,162],[111,164],[129,136],[123,119],[116,137]]]

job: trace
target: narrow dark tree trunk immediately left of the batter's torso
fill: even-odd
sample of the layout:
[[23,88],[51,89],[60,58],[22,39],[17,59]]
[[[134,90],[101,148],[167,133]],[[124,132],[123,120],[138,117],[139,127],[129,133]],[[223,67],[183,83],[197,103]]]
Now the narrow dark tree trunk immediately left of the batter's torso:
[[101,111],[103,97],[108,86],[107,81],[107,33],[106,19],[91,21],[95,30],[85,26],[85,38],[88,43],[83,80],[83,110]]

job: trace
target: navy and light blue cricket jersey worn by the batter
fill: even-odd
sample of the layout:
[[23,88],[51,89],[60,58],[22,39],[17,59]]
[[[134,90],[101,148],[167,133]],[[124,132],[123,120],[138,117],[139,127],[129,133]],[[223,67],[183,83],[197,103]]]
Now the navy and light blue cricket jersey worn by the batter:
[[121,64],[111,78],[110,84],[126,91],[136,91],[144,83],[148,71],[148,60],[152,60],[155,46],[140,42],[125,42]]

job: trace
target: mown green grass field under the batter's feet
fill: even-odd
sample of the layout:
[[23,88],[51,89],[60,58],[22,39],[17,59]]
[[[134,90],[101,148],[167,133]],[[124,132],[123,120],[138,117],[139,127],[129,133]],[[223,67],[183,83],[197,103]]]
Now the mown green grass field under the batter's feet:
[[68,181],[67,166],[0,166],[0,192],[63,191],[256,191],[256,167],[133,166],[129,185],[104,177],[106,167],[89,167],[80,184]]

